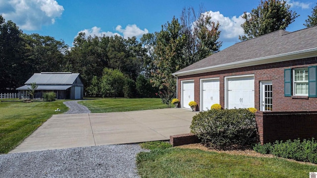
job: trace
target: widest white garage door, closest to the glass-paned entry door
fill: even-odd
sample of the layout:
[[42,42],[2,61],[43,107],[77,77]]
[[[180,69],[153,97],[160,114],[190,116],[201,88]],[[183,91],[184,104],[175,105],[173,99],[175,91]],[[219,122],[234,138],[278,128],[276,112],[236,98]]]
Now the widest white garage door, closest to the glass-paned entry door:
[[227,78],[228,109],[254,107],[254,76]]

